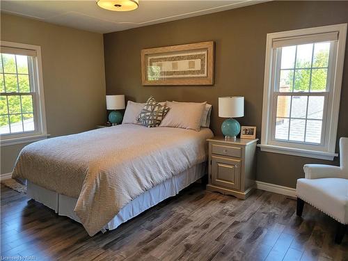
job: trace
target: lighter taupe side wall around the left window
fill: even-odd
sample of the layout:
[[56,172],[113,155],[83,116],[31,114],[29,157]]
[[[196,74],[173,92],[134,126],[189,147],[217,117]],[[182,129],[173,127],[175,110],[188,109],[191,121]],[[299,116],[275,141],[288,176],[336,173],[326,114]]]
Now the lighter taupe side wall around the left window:
[[[1,13],[1,40],[40,45],[47,132],[93,129],[106,117],[103,37]],[[10,173],[26,144],[1,147],[1,174]]]

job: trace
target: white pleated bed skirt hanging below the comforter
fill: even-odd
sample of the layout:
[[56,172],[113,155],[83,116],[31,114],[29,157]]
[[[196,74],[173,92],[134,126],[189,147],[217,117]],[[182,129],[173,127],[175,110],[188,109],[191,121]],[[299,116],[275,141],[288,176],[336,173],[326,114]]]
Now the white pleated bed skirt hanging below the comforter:
[[[171,177],[170,179],[158,184],[152,189],[145,191],[140,196],[134,198],[130,203],[122,207],[120,212],[111,219],[109,223],[104,226],[105,229],[113,230],[120,226],[120,224],[125,223],[129,219],[134,218],[144,212],[146,209],[157,205],[166,198],[177,195],[179,191],[188,187],[196,180],[199,180],[207,174],[207,164],[197,164],[187,171],[184,171],[178,175]],[[74,221],[80,222],[79,217],[74,212],[74,207],[77,203],[77,198],[71,198],[63,194],[50,191],[43,187],[33,184],[28,180],[26,195],[29,198],[34,199],[46,205],[47,207],[54,209],[56,213],[61,216],[68,216]]]

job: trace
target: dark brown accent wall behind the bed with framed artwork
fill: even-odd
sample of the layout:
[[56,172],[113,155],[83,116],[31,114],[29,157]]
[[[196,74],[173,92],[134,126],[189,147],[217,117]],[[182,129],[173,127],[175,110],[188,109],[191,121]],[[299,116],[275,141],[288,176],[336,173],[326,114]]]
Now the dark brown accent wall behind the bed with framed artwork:
[[[254,125],[260,137],[266,35],[277,31],[302,29],[348,22],[347,1],[272,1],[221,13],[155,24],[104,35],[106,93],[125,94],[129,100],[202,102],[213,105],[212,129],[221,135],[223,121],[218,117],[218,97],[245,97],[241,125]],[[144,48],[180,45],[214,40],[214,86],[141,86],[140,52]],[[348,42],[347,42],[348,47]],[[342,84],[338,137],[348,136],[348,56]],[[258,180],[295,187],[303,177],[303,164],[328,163],[289,155],[258,152]]]

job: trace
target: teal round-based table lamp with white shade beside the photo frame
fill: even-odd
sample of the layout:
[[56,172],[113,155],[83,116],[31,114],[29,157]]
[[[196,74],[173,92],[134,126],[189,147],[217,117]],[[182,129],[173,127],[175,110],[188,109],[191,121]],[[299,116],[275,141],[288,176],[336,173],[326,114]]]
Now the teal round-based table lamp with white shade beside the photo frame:
[[244,116],[244,97],[219,97],[219,117],[228,118],[221,125],[225,139],[236,139],[240,132],[240,124],[233,118]]

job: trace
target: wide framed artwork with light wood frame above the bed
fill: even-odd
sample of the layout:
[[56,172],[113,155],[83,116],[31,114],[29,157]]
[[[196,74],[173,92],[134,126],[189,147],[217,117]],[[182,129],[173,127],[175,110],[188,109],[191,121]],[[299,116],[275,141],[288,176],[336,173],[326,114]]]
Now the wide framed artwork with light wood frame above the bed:
[[142,49],[141,81],[144,86],[214,84],[214,42]]

